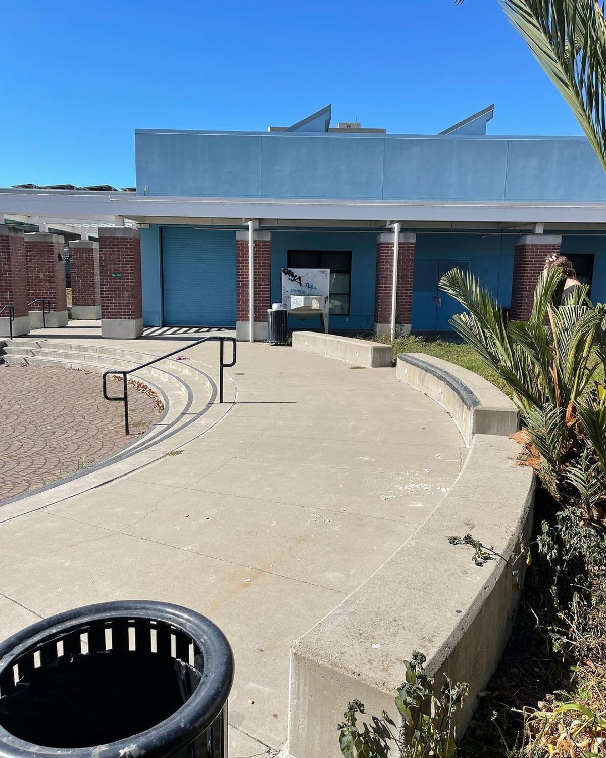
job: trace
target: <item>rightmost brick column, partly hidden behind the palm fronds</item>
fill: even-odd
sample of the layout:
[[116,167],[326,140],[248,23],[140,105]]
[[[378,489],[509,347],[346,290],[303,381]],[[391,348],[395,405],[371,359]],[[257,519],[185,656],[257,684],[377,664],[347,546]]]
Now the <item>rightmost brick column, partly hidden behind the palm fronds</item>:
[[513,321],[526,321],[533,310],[536,283],[548,255],[560,255],[562,238],[558,234],[525,234],[517,237],[514,252],[514,277],[511,282]]

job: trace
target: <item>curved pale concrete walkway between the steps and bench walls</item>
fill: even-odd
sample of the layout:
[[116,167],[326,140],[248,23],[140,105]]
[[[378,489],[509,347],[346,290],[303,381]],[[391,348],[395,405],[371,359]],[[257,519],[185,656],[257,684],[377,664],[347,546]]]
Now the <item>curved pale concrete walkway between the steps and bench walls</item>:
[[[98,340],[92,329],[61,331]],[[216,363],[216,345],[186,344],[192,363]],[[395,369],[238,349],[237,402],[210,430],[61,502],[0,507],[0,635],[104,600],[208,615],[236,657],[231,758],[286,742],[292,642],[414,534],[467,453],[448,414]]]

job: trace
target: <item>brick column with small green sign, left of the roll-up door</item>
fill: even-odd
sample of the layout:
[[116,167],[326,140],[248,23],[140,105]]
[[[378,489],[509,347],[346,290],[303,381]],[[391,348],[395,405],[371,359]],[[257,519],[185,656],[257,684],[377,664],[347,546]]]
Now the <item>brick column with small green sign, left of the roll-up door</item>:
[[139,230],[99,229],[101,335],[133,340],[143,334]]

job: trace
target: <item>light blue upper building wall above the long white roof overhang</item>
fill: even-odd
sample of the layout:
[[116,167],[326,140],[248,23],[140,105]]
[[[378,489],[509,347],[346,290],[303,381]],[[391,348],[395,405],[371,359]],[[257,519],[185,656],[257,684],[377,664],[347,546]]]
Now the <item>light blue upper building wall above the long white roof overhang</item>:
[[137,130],[137,191],[324,199],[606,199],[576,137]]

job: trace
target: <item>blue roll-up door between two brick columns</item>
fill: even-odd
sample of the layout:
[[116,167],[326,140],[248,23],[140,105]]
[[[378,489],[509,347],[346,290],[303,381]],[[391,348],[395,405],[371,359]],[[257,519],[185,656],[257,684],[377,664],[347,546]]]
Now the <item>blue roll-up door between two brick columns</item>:
[[164,324],[236,326],[236,233],[163,227]]

